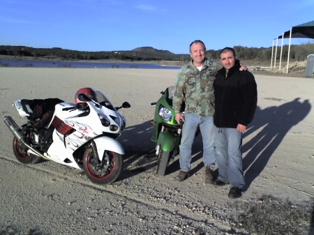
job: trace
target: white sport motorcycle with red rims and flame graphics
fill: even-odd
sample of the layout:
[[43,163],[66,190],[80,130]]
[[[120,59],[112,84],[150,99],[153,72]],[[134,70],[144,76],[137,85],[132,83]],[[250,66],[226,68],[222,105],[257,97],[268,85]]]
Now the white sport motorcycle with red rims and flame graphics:
[[13,153],[24,164],[35,164],[44,158],[84,169],[94,183],[113,183],[121,172],[124,155],[116,139],[126,127],[117,110],[130,104],[113,107],[100,91],[79,91],[76,105],[57,98],[16,100],[13,106],[28,121],[19,127],[12,117],[4,117],[14,135]]

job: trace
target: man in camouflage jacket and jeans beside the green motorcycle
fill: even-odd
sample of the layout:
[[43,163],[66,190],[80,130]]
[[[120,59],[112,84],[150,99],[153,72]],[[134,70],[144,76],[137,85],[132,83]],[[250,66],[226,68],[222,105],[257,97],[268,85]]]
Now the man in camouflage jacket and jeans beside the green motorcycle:
[[[205,165],[205,182],[213,183],[215,167],[214,153],[214,79],[218,63],[205,58],[206,48],[201,40],[190,44],[192,60],[181,68],[174,84],[173,108],[176,121],[184,121],[180,149],[180,168],[177,181],[188,178],[190,170],[191,149],[195,132],[200,126],[203,140],[203,162]],[[185,102],[185,109],[181,110]],[[184,116],[181,112],[184,111]]]

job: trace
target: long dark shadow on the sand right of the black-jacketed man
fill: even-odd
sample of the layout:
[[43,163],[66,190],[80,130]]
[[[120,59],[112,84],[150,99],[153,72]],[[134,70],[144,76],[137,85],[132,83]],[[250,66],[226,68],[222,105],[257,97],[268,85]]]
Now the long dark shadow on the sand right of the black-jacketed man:
[[[275,98],[268,98],[276,100]],[[311,104],[308,100],[300,102],[299,98],[283,105],[271,106],[266,109],[257,107],[253,122],[244,133],[244,138],[257,132],[242,147],[242,152],[248,152],[243,160],[243,170],[246,172],[246,186],[248,189],[254,179],[266,167],[269,158],[276,151],[289,130],[302,121],[310,112]]]

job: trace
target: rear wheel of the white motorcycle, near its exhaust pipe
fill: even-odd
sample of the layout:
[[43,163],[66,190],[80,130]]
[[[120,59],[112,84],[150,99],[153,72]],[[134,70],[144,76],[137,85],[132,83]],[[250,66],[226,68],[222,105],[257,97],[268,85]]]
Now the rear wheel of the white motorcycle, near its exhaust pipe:
[[27,153],[27,146],[25,146],[22,142],[18,142],[17,138],[13,138],[13,153],[15,155],[15,158],[23,163],[23,164],[36,164],[39,162],[40,157]]

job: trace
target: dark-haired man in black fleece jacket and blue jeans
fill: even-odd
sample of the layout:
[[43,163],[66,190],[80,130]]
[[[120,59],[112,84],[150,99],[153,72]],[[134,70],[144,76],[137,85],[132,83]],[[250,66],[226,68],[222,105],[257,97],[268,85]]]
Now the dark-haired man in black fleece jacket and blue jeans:
[[214,84],[214,144],[219,176],[214,185],[231,185],[228,197],[239,198],[244,187],[242,171],[242,133],[253,119],[257,105],[257,87],[254,76],[240,71],[240,62],[234,50],[220,51],[223,68],[218,70]]

